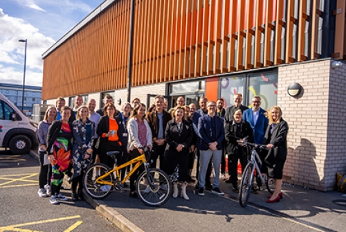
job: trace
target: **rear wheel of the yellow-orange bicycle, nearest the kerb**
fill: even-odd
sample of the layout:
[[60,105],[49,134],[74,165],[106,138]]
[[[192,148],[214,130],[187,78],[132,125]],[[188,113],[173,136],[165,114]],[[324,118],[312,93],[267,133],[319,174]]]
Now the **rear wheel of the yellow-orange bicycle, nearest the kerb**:
[[[111,194],[111,186],[107,184],[98,184],[96,179],[108,172],[109,168],[105,164],[95,163],[86,170],[83,177],[83,186],[86,193],[93,199],[104,199]],[[102,179],[113,183],[113,175]]]

